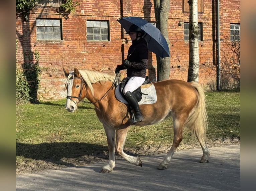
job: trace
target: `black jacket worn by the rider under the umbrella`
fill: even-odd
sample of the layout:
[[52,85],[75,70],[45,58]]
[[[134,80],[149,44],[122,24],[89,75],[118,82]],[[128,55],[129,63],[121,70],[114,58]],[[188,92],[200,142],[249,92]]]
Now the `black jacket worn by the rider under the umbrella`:
[[131,67],[127,68],[126,71],[128,77],[146,77],[148,48],[145,39],[142,38],[132,42],[132,45],[129,47],[128,56],[126,59],[131,62]]

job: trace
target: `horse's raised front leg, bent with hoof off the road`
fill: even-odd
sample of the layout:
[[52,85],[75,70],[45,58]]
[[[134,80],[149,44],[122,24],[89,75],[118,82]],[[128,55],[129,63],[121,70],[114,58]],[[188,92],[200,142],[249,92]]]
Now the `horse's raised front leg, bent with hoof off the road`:
[[128,162],[137,166],[142,166],[142,162],[139,157],[130,156],[123,151],[123,145],[125,143],[128,129],[129,127],[116,130],[116,153]]

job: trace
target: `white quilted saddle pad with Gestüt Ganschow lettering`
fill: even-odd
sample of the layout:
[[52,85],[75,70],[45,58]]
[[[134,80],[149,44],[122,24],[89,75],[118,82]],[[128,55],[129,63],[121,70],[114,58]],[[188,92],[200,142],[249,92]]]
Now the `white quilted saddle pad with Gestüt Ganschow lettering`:
[[[115,90],[115,95],[116,98],[121,101],[122,103],[128,103],[123,96],[120,93],[120,86],[118,86]],[[143,105],[143,104],[151,104],[151,103],[155,103],[157,100],[157,96],[156,96],[156,91],[155,91],[155,86],[152,84],[152,86],[148,87],[148,88],[141,88],[141,92],[142,94],[142,99],[139,102],[139,105]],[[147,94],[147,95],[144,95]]]

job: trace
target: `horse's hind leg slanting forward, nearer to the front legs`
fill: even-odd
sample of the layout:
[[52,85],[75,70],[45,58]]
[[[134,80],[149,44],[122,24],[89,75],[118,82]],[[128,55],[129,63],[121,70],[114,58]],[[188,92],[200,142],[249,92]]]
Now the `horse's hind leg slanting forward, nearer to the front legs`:
[[181,120],[173,120],[173,142],[171,145],[171,148],[167,155],[164,157],[163,161],[159,164],[158,169],[164,170],[167,168],[167,165],[171,161],[171,157],[176,151],[177,147],[179,146],[179,143],[182,141],[182,130],[183,130],[183,124],[184,122],[180,122]]

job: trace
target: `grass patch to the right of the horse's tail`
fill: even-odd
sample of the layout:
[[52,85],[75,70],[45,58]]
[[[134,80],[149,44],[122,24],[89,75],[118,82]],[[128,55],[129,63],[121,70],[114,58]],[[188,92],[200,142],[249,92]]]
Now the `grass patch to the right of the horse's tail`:
[[240,91],[207,92],[209,139],[240,138]]

